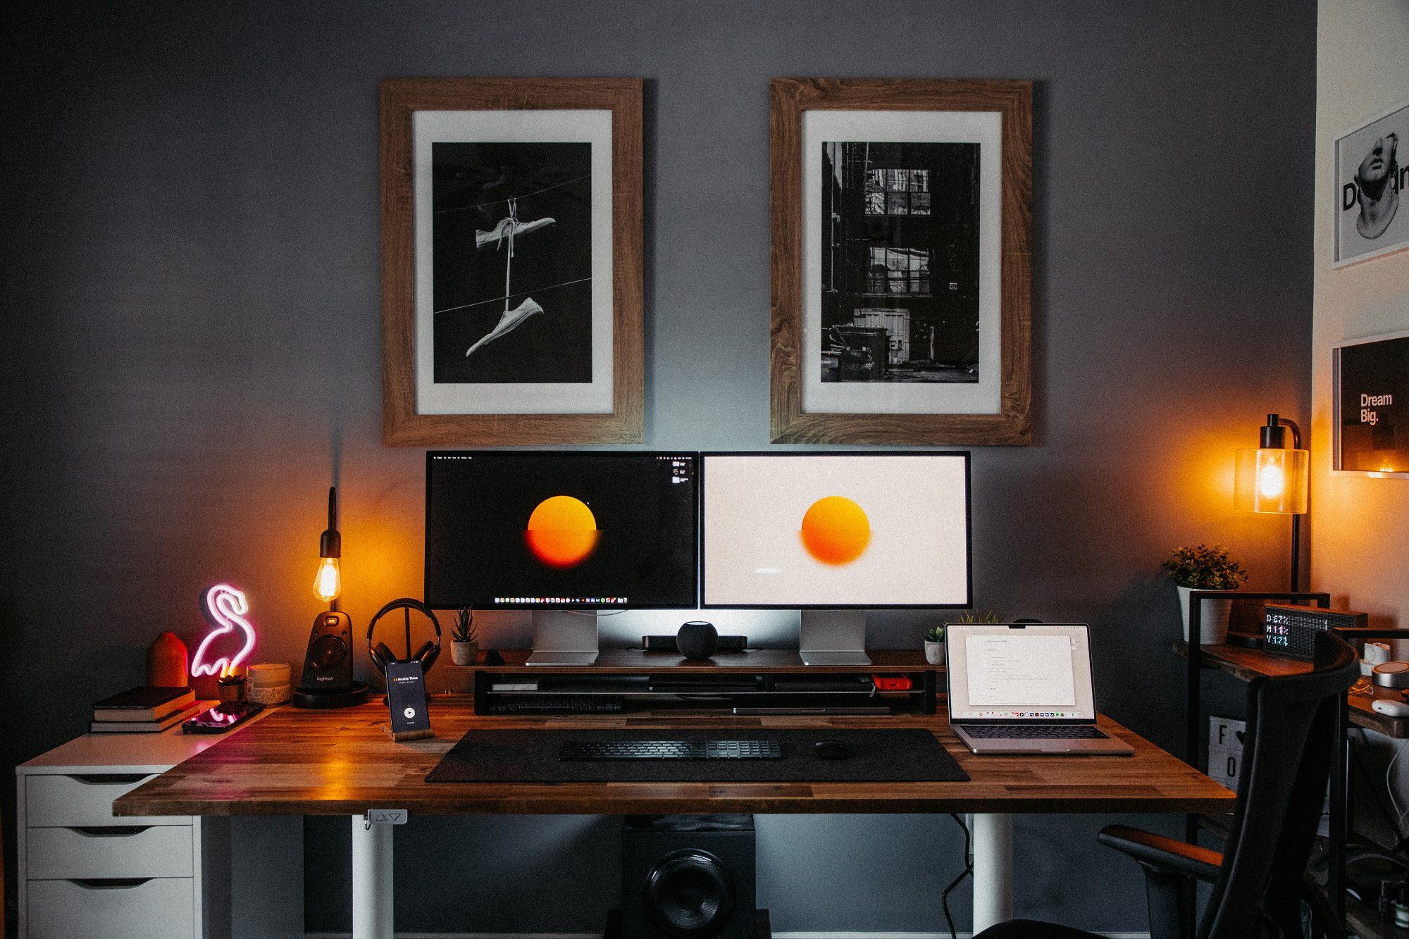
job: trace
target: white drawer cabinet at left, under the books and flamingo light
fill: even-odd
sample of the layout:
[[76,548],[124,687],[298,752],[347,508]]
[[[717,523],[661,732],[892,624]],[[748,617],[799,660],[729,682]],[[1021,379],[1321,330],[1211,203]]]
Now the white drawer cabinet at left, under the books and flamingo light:
[[228,939],[227,821],[113,815],[218,740],[85,735],[17,767],[18,939]]

